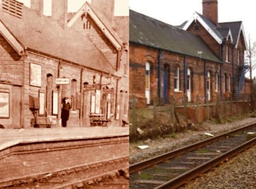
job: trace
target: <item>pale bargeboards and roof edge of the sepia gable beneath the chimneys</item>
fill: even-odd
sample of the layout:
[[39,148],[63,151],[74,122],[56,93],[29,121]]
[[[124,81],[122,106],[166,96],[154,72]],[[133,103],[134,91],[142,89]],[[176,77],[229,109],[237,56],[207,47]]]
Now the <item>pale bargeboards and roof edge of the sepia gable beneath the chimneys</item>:
[[122,48],[122,41],[116,32],[112,29],[111,24],[109,24],[108,19],[104,16],[103,13],[100,11],[95,12],[97,9],[85,2],[82,7],[78,10],[78,12],[72,17],[68,22],[68,27],[72,27],[77,21],[78,18],[82,16],[82,14],[87,13],[90,15],[93,21],[95,21],[96,25],[101,29],[104,35],[108,38],[108,40],[113,44],[113,46],[117,50],[121,50]]

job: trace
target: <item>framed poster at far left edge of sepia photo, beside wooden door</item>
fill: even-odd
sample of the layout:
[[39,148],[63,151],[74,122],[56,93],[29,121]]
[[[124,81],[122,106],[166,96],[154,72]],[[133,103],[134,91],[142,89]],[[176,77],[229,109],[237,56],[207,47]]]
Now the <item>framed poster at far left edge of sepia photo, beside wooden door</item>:
[[10,116],[10,94],[0,91],[0,118],[9,118]]

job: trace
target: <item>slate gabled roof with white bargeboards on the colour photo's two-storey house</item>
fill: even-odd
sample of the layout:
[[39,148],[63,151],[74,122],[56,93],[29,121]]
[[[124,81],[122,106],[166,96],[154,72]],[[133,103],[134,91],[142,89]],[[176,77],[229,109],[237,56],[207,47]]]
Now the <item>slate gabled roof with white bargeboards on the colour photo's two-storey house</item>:
[[[222,44],[224,40],[230,37],[231,42],[237,47],[239,42],[240,33],[243,33],[244,43],[247,49],[247,42],[245,40],[245,33],[243,29],[242,21],[236,22],[225,22],[225,23],[218,23],[215,25],[210,19],[204,17],[200,13],[195,12],[191,19],[183,25],[184,30],[187,30],[189,26],[194,22],[199,21],[201,25],[208,31],[208,33],[219,43]],[[181,26],[182,26],[181,25]]]

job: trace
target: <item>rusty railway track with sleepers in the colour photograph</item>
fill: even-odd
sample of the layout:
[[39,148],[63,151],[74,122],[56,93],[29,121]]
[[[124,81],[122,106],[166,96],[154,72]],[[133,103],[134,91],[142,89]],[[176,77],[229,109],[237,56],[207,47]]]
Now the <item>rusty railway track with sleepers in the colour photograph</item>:
[[256,144],[248,132],[256,123],[132,164],[130,189],[176,189]]

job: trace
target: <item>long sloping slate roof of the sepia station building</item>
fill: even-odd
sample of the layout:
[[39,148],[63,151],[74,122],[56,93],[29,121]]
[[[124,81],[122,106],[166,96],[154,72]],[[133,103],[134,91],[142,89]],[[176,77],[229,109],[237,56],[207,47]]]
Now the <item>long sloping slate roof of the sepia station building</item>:
[[22,46],[94,70],[116,73],[87,36],[62,28],[51,17],[39,16],[25,6],[22,11],[20,19],[0,10],[0,21]]

